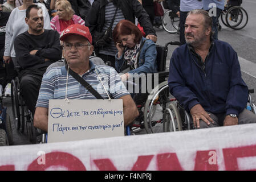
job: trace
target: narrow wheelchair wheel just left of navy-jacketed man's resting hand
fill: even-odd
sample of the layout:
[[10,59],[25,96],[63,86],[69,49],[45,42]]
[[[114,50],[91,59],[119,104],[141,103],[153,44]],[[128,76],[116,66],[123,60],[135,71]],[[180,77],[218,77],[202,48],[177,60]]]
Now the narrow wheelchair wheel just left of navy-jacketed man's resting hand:
[[175,104],[174,102],[171,102],[165,110],[163,130],[165,132],[182,130],[180,113],[178,111],[177,104]]

